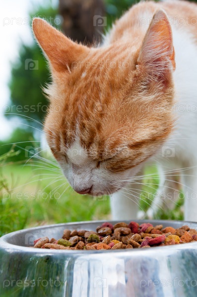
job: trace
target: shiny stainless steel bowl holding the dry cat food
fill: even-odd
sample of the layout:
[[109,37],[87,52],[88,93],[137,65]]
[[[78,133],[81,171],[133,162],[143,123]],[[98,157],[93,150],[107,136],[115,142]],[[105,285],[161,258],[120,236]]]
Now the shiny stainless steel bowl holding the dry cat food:
[[[197,297],[197,242],[113,251],[28,247],[40,237],[61,238],[64,229],[96,230],[102,222],[42,226],[1,237],[0,297]],[[137,222],[197,229],[191,222]]]

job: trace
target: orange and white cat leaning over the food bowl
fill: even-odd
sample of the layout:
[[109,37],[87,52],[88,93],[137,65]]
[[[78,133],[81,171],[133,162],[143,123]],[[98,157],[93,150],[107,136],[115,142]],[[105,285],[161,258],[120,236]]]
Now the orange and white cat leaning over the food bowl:
[[40,18],[33,31],[52,76],[46,137],[73,189],[112,195],[112,218],[136,219],[143,170],[157,162],[159,195],[180,185],[185,220],[197,221],[197,4],[135,4],[98,47]]

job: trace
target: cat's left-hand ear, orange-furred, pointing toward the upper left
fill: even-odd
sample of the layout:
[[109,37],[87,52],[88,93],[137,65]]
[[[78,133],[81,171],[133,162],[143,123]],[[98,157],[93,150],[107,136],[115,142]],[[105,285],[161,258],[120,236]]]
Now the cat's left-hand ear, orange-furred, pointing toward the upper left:
[[77,62],[90,51],[88,47],[71,41],[41,18],[33,19],[32,29],[49,60],[52,72],[69,73],[72,66],[76,67]]

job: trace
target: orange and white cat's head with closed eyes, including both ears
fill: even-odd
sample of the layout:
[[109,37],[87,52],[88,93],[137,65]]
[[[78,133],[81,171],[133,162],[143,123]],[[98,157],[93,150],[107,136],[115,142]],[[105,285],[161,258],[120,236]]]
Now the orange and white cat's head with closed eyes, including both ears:
[[39,18],[33,30],[52,74],[45,132],[54,157],[77,192],[115,192],[173,128],[167,16],[156,12],[143,41],[100,48],[76,44]]

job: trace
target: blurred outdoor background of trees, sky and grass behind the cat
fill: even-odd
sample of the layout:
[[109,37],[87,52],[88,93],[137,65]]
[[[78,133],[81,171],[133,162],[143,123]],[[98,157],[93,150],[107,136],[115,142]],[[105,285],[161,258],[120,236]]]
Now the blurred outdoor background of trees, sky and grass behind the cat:
[[[45,18],[74,41],[98,44],[134,0],[7,0],[0,10],[0,236],[29,226],[110,219],[108,197],[78,195],[62,176],[43,137],[50,82],[46,60],[33,39],[32,18]],[[147,211],[157,188],[155,169],[140,207]],[[151,176],[152,174],[152,176]],[[146,183],[146,179],[144,182]],[[182,219],[179,199],[160,218]]]

